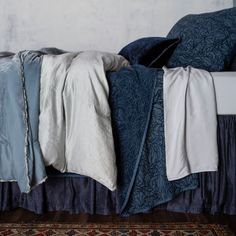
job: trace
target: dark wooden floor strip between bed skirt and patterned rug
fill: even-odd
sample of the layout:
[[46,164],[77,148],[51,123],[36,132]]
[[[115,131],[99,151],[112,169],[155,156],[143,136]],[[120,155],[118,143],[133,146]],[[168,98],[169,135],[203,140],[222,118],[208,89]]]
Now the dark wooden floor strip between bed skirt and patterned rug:
[[50,212],[43,215],[37,215],[23,209],[1,212],[1,223],[169,223],[169,222],[194,222],[194,223],[216,223],[228,225],[236,235],[236,216],[228,215],[208,215],[208,214],[184,214],[167,211],[155,211],[149,214],[138,214],[128,218],[119,216],[99,216],[79,214],[73,215],[66,212]]

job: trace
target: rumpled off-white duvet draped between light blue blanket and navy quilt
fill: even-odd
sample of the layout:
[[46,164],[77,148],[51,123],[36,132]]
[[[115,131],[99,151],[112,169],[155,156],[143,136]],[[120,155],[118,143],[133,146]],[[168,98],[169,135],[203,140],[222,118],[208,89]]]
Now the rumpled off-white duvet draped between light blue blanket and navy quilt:
[[43,57],[39,142],[46,165],[116,189],[105,73],[128,64],[122,56],[98,51]]

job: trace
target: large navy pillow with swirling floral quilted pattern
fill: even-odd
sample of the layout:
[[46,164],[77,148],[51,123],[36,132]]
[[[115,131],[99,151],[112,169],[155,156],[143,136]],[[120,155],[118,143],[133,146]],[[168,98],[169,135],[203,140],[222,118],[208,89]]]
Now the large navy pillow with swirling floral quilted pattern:
[[236,8],[187,15],[174,25],[167,37],[181,38],[167,66],[228,70],[236,54]]

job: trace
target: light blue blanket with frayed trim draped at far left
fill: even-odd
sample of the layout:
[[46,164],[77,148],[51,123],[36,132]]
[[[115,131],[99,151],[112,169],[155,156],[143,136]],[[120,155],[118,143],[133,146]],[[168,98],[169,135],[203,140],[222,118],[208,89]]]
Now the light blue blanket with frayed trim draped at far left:
[[46,179],[38,143],[41,54],[24,51],[0,59],[0,180],[22,192]]

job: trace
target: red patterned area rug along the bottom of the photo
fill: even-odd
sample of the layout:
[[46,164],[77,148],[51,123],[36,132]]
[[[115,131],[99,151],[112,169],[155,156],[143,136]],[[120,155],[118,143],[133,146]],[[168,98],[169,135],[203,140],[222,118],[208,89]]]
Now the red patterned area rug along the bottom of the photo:
[[0,235],[28,236],[231,236],[226,226],[216,224],[0,224]]

